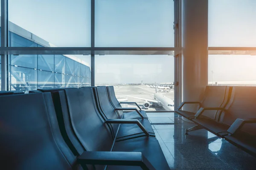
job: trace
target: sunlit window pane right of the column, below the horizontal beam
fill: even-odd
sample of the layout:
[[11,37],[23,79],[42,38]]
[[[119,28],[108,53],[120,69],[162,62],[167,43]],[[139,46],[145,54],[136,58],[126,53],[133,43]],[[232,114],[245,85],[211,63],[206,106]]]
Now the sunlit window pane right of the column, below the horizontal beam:
[[256,56],[209,55],[209,85],[256,85]]

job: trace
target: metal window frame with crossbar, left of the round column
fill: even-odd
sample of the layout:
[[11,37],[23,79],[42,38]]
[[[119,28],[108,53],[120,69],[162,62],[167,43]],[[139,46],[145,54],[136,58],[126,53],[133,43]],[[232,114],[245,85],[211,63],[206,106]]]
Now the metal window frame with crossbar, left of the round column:
[[[90,47],[10,47],[8,27],[8,0],[1,0],[1,90],[9,89],[10,55],[91,55],[91,86],[95,85],[95,55],[174,55],[175,57],[175,106],[181,103],[181,0],[174,0],[175,47],[95,47],[95,0],[91,0]],[[180,74],[178,74],[180,73]],[[176,75],[177,74],[177,75]],[[180,89],[180,90],[178,90]]]

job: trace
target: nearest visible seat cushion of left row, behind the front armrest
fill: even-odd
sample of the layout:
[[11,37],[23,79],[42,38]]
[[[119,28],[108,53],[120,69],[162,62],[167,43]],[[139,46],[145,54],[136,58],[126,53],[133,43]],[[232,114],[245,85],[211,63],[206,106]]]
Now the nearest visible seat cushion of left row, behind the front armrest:
[[[154,137],[140,137],[127,141],[116,142],[113,151],[141,152],[156,170],[169,170],[163,151]],[[108,170],[141,170],[140,167],[109,166]]]

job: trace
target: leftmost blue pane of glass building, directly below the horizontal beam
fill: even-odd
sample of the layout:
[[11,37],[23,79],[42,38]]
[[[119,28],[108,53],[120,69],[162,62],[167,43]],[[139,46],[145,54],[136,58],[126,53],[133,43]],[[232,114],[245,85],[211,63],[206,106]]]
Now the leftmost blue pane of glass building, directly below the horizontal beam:
[[11,65],[37,68],[37,55],[11,55]]

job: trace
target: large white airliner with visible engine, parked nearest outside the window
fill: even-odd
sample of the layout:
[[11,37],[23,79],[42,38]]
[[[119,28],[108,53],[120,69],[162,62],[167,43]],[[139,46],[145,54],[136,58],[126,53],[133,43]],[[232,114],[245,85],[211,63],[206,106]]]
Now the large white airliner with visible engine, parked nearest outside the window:
[[157,104],[158,106],[163,107],[166,111],[174,111],[173,100],[164,96],[163,94],[157,93],[157,87],[155,86],[155,88],[156,88],[156,93],[152,94],[154,96],[154,100],[153,99],[143,99],[143,98],[134,97],[134,96],[129,96],[129,97],[145,100],[145,102],[143,103],[144,108],[149,108],[150,103],[154,103],[154,104]]

